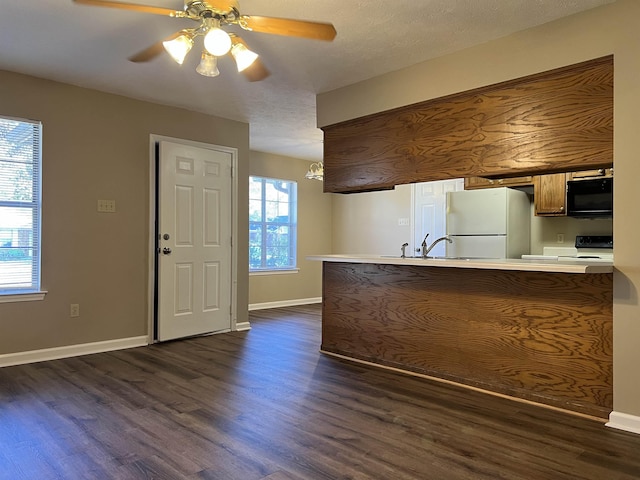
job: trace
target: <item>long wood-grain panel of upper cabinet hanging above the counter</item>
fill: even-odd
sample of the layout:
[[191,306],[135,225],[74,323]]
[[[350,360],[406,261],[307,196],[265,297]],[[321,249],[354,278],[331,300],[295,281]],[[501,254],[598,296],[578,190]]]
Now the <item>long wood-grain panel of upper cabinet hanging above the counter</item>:
[[613,163],[613,57],[323,127],[324,191]]

